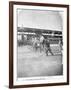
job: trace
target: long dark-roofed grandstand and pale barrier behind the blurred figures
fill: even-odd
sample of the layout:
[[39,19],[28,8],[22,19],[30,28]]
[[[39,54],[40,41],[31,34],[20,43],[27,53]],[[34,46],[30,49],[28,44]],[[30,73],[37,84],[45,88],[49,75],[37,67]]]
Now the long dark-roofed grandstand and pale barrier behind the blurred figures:
[[38,37],[43,35],[44,38],[48,37],[50,40],[50,46],[54,54],[61,54],[59,40],[63,40],[62,31],[53,31],[46,29],[26,28],[18,27],[18,45],[31,45],[32,37]]

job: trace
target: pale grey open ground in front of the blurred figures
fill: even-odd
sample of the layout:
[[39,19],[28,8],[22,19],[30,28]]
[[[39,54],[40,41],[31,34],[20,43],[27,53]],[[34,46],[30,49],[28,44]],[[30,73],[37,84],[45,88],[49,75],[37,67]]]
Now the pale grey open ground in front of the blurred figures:
[[62,75],[62,56],[46,56],[28,46],[18,47],[18,77]]

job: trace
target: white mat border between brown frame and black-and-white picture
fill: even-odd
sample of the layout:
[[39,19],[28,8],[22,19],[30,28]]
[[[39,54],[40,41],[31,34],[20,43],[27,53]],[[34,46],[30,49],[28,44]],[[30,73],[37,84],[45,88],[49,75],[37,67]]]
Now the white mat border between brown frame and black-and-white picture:
[[[17,79],[17,17],[16,10],[20,9],[40,9],[40,10],[55,10],[63,11],[63,76],[49,76],[49,77],[35,77],[35,78],[20,78]],[[13,52],[13,84],[14,85],[27,85],[27,84],[42,84],[42,83],[61,83],[67,81],[67,9],[58,7],[43,7],[43,6],[27,6],[27,5],[14,5],[13,6],[13,30],[14,30],[14,52]]]

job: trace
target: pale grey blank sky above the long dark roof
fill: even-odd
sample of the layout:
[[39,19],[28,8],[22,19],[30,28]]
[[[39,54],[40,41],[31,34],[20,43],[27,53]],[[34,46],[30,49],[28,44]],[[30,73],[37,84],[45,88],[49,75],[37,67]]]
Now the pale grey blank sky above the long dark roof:
[[33,9],[18,9],[18,27],[62,30],[63,12]]

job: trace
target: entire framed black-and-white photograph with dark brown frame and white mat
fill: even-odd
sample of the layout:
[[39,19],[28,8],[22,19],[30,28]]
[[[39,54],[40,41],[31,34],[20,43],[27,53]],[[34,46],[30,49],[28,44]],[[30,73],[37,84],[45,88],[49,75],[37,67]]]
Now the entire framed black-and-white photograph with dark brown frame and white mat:
[[69,6],[9,3],[9,87],[69,84]]

